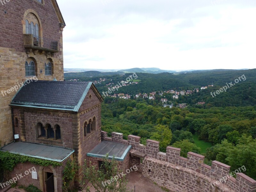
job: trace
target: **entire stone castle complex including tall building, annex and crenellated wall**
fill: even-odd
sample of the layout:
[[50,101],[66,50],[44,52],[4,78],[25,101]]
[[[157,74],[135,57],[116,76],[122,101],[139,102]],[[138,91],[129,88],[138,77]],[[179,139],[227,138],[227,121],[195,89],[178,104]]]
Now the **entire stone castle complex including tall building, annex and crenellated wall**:
[[[79,180],[85,160],[99,168],[109,154],[110,159],[116,157],[119,169],[136,165],[144,176],[172,192],[255,192],[255,180],[241,172],[228,177],[230,166],[217,161],[206,165],[204,156],[189,152],[184,158],[179,148],[172,147],[159,152],[158,141],[147,140],[144,146],[133,135],[124,140],[122,133],[112,132],[108,137],[101,131],[103,98],[96,87],[90,82],[63,81],[65,22],[56,0],[2,2],[0,151],[59,163],[19,163],[8,172],[8,180],[33,167],[19,185],[62,192],[68,160],[76,157]],[[0,184],[6,184],[1,179]]]

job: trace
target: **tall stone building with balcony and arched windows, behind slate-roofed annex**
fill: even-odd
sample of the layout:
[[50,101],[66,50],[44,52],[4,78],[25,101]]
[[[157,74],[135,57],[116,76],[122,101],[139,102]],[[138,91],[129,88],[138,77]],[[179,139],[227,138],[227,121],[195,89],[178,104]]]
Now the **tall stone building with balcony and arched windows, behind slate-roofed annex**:
[[9,106],[27,79],[62,81],[65,22],[56,0],[0,3],[0,145],[13,140]]

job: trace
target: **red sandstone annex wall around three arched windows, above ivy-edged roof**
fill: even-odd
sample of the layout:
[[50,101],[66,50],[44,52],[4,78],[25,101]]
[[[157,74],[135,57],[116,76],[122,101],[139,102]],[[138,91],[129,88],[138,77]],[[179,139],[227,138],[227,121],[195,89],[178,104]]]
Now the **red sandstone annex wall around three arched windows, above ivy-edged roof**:
[[[74,114],[52,113],[43,110],[25,110],[22,108],[13,109],[14,118],[18,118],[19,126],[15,128],[15,134],[20,135],[20,141],[27,141],[32,143],[42,143],[54,146],[61,146],[73,149],[73,132],[76,130],[74,122],[77,121]],[[36,138],[37,123],[49,123],[54,127],[55,124],[60,125],[62,131],[62,142],[54,140],[42,140]]]

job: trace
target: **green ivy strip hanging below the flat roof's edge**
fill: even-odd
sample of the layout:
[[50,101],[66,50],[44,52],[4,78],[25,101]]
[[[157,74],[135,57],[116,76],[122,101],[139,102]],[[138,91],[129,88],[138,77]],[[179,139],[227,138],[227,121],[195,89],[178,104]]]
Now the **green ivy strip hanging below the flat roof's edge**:
[[4,171],[12,171],[18,163],[30,162],[32,164],[47,167],[52,165],[53,167],[61,166],[60,163],[50,160],[38,159],[35,157],[28,157],[19,154],[13,154],[9,152],[0,151],[0,169]]

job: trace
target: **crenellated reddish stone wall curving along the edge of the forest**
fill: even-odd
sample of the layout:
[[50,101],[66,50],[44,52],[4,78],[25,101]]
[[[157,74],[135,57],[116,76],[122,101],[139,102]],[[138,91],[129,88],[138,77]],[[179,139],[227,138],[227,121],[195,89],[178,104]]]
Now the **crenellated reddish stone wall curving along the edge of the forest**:
[[129,135],[123,140],[123,134],[101,131],[102,140],[110,140],[131,145],[130,164],[140,164],[140,158],[133,154],[145,154],[142,174],[160,186],[175,192],[255,192],[256,181],[244,173],[236,178],[229,175],[230,166],[212,161],[212,166],[204,164],[204,156],[188,152],[188,157],[180,156],[180,148],[167,147],[166,153],[159,152],[159,142],[147,140],[140,144],[140,137]]

